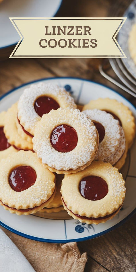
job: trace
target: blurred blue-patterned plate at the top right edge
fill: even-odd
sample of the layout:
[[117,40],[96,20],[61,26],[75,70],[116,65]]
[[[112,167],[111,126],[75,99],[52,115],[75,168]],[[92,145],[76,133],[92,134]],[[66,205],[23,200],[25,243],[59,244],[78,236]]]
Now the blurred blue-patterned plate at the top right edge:
[[136,24],[136,0],[134,0],[128,9],[123,14],[123,17],[127,17],[127,20],[118,34],[118,43],[124,51],[127,59],[121,59],[129,73],[136,79],[136,65],[130,56],[128,48],[128,38],[131,31],[132,25]]

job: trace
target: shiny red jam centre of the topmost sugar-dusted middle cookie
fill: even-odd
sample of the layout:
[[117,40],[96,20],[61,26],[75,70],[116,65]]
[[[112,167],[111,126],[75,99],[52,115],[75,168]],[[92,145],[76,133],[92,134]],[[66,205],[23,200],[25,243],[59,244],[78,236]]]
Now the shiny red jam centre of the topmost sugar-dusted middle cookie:
[[70,152],[76,147],[77,141],[75,129],[65,124],[55,127],[50,136],[51,145],[59,152]]

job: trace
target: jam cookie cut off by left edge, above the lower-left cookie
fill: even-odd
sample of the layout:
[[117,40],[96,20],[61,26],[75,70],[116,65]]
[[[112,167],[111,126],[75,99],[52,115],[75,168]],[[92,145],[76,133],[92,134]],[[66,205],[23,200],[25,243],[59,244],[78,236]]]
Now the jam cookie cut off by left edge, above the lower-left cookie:
[[6,112],[0,113],[0,161],[1,159],[7,158],[12,152],[17,152],[17,150],[10,145],[8,142],[5,133],[4,133],[4,124],[5,124]]

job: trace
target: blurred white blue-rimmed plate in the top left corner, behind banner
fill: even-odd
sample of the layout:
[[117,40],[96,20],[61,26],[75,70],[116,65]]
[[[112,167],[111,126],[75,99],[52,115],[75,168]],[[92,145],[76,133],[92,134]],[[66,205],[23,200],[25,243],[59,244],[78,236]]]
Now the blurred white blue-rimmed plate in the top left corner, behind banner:
[[0,3],[0,48],[18,43],[20,36],[9,17],[53,17],[62,0],[3,0]]

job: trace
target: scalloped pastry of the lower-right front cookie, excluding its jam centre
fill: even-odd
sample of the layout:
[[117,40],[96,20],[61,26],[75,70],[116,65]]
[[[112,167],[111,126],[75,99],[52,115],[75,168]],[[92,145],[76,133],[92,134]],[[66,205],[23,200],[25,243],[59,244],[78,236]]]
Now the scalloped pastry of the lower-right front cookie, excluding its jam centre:
[[[81,196],[79,182],[86,176],[99,176],[108,184],[107,195],[97,201],[91,201]],[[76,174],[65,175],[61,185],[61,197],[64,209],[68,209],[69,215],[81,222],[99,224],[106,222],[110,217],[93,220],[90,217],[114,216],[118,213],[125,199],[125,181],[118,169],[103,161],[93,161],[85,170]],[[74,216],[72,215],[74,213]],[[114,214],[113,214],[114,213]],[[88,217],[82,219],[77,215]],[[99,221],[99,222],[98,222]],[[92,222],[92,223],[91,223]]]

